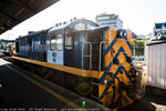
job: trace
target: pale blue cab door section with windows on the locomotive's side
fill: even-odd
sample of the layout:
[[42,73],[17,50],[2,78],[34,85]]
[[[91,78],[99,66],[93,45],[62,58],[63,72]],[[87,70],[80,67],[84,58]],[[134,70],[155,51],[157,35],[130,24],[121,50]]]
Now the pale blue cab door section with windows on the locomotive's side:
[[63,34],[54,33],[49,39],[48,62],[63,65]]

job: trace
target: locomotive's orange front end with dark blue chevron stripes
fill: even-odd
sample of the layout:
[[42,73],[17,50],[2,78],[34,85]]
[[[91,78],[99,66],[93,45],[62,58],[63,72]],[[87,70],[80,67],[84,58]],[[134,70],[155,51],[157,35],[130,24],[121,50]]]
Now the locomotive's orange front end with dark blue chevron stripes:
[[[107,93],[113,92],[113,85],[116,89],[120,87],[120,82],[125,85],[134,85],[133,79],[129,77],[129,70],[133,68],[132,62],[132,32],[110,28],[105,33],[105,71],[100,77],[100,83],[107,79],[106,84],[100,84],[98,98],[104,105],[112,103]],[[118,88],[120,89],[120,88]],[[115,93],[114,98],[118,98],[120,94]],[[113,93],[110,95],[113,97]]]

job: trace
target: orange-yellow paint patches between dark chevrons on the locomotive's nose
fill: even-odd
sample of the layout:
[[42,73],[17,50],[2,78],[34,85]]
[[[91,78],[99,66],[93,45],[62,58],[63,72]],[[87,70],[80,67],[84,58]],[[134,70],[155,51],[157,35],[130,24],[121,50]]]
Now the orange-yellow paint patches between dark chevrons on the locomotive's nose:
[[[117,31],[118,29],[115,29],[115,28],[110,28],[106,33],[105,33],[105,49],[108,48],[108,46],[113,42],[113,40],[115,39],[116,34],[117,34]],[[132,32],[131,31],[127,31],[127,40],[128,42],[132,44]],[[110,64],[110,62],[113,60],[113,58],[116,56],[117,51],[120,50],[120,48],[123,48],[125,53],[131,57],[132,56],[132,51],[131,49],[128,48],[128,44],[126,43],[125,39],[123,38],[117,38],[116,42],[114,43],[113,48],[106,53],[106,56],[104,57],[104,63],[105,63],[105,67],[107,67]],[[113,53],[113,50],[115,51]],[[126,58],[124,56],[124,53],[120,53],[120,56],[117,57],[118,60],[120,60],[120,64],[122,63],[123,67],[125,68],[126,71],[128,71],[131,69],[131,65],[129,63],[126,61]],[[110,72],[113,72],[115,73],[117,71],[117,68],[120,65],[117,64],[113,64],[112,68],[110,69]],[[101,73],[100,77],[102,77],[103,73]],[[111,75],[106,75],[105,77],[107,80],[112,80],[113,77]],[[123,81],[125,84],[128,84],[128,78],[125,75],[124,71],[122,74],[117,74],[117,78],[120,79],[120,81]],[[129,82],[131,83],[131,82]],[[112,87],[110,87],[110,89],[107,90],[107,92],[105,93],[104,98],[101,99],[100,101],[105,105],[105,107],[108,107],[111,105],[113,102],[117,102],[120,95],[122,94],[120,92],[120,88],[118,88],[118,80],[115,79],[114,80],[114,85],[115,85],[115,99],[113,100],[113,89]],[[98,87],[98,98],[102,95],[103,91],[105,90],[107,85],[105,84],[100,84]],[[129,98],[126,95],[125,99],[129,100]],[[132,100],[129,100],[131,102]],[[121,101],[123,102],[123,100]],[[133,101],[132,101],[133,102]],[[126,104],[126,102],[124,102],[124,104]]]

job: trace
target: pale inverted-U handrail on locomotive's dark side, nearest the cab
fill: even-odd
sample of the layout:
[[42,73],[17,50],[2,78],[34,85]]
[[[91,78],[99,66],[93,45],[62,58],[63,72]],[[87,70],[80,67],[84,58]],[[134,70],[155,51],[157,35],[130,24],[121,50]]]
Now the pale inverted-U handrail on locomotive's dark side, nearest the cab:
[[[90,44],[90,56],[84,56],[84,44]],[[82,69],[84,69],[84,57],[90,58],[90,70],[92,69],[92,43],[91,42],[83,42],[82,43]]]

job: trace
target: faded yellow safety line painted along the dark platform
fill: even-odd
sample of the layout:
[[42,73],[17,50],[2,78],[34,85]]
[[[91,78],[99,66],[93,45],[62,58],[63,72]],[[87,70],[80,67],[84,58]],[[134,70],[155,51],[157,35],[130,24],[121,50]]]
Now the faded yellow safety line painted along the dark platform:
[[41,89],[45,90],[48,93],[52,94],[53,97],[58,98],[59,100],[63,101],[64,103],[71,105],[72,108],[74,108],[74,109],[80,109],[81,111],[85,111],[84,109],[82,109],[82,108],[79,107],[77,104],[75,104],[75,103],[73,103],[72,101],[65,99],[64,97],[62,97],[62,95],[55,93],[53,90],[51,90],[51,89],[44,87],[43,84],[37,82],[35,80],[33,80],[33,79],[27,77],[27,75],[23,74],[22,72],[15,70],[15,69],[13,69],[13,68],[11,68],[11,67],[9,67],[8,64],[6,64],[6,67],[9,68],[10,70],[17,72],[19,75],[25,78],[25,79],[29,80],[30,82],[34,83],[35,85],[40,87]]

